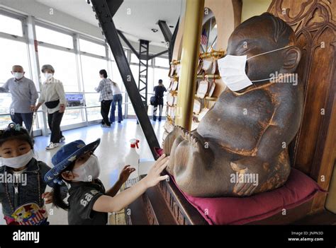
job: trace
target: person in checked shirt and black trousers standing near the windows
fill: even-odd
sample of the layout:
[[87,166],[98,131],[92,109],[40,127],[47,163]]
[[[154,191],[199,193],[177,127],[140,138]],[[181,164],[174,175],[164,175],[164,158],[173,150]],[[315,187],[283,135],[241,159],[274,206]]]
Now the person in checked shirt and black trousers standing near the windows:
[[101,126],[111,127],[111,122],[108,120],[108,113],[110,112],[110,106],[113,99],[112,81],[107,78],[107,72],[104,69],[99,71],[99,76],[102,80],[95,90],[96,92],[101,93],[99,96],[99,102],[101,102],[101,117],[103,117]]

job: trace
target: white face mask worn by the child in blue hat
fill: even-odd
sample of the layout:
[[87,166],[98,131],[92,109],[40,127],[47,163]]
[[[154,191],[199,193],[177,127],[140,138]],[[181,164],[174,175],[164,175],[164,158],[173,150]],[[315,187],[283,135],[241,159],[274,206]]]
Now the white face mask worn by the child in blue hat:
[[86,162],[72,170],[74,174],[77,174],[78,177],[75,177],[73,181],[75,182],[92,182],[94,179],[99,177],[101,168],[99,166],[99,160],[95,155],[91,155]]

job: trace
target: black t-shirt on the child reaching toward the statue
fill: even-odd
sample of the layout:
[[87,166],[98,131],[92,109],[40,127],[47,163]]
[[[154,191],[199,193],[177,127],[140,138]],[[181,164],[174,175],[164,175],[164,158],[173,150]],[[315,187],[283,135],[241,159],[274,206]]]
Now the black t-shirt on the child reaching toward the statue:
[[105,188],[99,179],[92,182],[75,182],[69,189],[69,225],[106,225],[107,213],[96,212],[92,208],[100,196],[105,195]]

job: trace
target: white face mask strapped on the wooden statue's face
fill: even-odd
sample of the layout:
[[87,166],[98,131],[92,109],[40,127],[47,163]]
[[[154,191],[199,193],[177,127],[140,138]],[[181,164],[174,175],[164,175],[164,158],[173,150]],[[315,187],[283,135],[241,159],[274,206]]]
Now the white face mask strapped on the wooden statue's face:
[[276,52],[281,49],[285,49],[287,47],[289,46],[274,49],[269,52],[263,52],[262,54],[254,55],[248,59],[247,55],[226,55],[225,57],[223,57],[223,59],[218,59],[218,69],[220,77],[223,79],[225,85],[227,85],[228,88],[232,91],[242,90],[243,88],[252,85],[252,82],[269,80],[271,78],[250,81],[250,78],[247,77],[245,72],[246,61],[263,54],[269,54],[270,52]]

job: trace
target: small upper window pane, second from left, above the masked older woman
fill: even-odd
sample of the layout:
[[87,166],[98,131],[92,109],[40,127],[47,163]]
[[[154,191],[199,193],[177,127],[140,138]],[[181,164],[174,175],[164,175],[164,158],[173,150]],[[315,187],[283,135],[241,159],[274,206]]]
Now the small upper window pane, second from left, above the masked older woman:
[[35,25],[36,39],[40,42],[46,42],[60,47],[74,48],[74,42],[71,35],[66,35],[48,28]]

